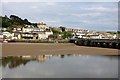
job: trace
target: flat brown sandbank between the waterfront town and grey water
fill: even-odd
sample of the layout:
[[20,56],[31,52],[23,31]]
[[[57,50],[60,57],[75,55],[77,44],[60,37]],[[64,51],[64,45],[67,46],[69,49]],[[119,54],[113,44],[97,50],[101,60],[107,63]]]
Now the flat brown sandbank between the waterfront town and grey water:
[[73,43],[3,43],[2,56],[41,54],[118,55],[117,49],[77,46]]

